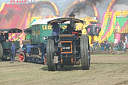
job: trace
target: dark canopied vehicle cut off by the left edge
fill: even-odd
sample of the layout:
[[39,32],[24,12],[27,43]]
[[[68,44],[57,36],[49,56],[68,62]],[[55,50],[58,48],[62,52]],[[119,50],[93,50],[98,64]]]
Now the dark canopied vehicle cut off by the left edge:
[[20,41],[9,40],[9,34],[15,33],[13,38],[17,38],[17,33],[22,33],[18,28],[0,29],[0,60],[6,60],[11,56],[11,45],[14,42],[16,49],[20,48]]

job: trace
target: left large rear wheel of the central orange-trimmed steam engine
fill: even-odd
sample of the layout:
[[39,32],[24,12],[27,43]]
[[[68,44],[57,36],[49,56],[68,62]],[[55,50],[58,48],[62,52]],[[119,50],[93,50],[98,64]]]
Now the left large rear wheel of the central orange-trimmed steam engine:
[[54,41],[51,39],[48,39],[47,42],[47,65],[49,71],[55,71],[56,66],[54,63]]

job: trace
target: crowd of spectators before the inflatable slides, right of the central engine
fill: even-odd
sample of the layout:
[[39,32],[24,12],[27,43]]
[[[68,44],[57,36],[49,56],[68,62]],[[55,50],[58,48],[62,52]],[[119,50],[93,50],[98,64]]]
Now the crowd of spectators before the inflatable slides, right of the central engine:
[[110,51],[110,50],[117,50],[117,51],[125,51],[128,43],[123,42],[123,40],[119,41],[118,43],[114,44],[111,41],[102,41],[99,43],[98,41],[93,42],[91,47],[91,51]]

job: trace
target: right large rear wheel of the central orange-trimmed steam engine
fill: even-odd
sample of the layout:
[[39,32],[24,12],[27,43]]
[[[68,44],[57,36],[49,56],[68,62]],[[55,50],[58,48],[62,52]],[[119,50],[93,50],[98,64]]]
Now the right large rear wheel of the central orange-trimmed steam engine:
[[88,36],[81,35],[80,39],[80,53],[81,53],[81,64],[83,70],[89,70],[90,67],[90,49],[88,43]]

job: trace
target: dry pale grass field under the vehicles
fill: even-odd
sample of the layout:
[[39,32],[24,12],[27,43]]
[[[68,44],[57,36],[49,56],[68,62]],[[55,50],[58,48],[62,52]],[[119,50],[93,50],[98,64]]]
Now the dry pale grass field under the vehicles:
[[2,61],[0,85],[128,85],[128,54],[92,55],[90,70],[77,65],[55,72],[46,65]]

